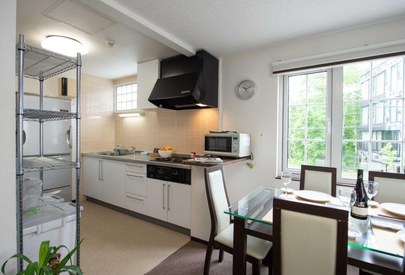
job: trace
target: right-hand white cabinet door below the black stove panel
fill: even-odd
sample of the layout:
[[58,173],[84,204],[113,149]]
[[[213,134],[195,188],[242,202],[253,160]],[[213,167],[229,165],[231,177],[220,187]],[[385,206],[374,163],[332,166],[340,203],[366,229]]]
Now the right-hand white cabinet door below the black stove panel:
[[190,228],[191,190],[187,184],[169,182],[167,184],[167,221]]

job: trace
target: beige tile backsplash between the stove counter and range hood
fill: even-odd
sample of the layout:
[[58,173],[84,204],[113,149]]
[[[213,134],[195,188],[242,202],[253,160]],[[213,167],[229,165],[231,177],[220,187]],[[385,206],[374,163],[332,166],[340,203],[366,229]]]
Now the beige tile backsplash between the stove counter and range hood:
[[151,151],[171,146],[174,153],[203,154],[204,134],[218,131],[217,109],[145,112],[141,117],[115,115],[115,143]]

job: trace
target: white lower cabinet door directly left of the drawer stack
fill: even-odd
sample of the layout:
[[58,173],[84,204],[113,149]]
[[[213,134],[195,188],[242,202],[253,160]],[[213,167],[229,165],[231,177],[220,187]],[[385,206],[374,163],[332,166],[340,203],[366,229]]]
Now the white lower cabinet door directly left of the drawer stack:
[[125,164],[103,159],[101,162],[103,201],[125,208]]

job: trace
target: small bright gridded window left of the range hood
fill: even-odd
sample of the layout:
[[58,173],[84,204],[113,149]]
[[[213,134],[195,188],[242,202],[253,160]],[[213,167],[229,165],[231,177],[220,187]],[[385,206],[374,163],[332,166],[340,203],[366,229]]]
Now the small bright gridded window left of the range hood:
[[115,86],[115,110],[126,111],[136,109],[137,84],[124,84]]

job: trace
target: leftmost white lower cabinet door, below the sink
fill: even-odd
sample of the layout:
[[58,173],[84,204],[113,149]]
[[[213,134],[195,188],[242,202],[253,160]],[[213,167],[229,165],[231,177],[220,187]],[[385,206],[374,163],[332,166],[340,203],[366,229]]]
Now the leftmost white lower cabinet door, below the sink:
[[102,159],[83,157],[83,194],[103,200]]

